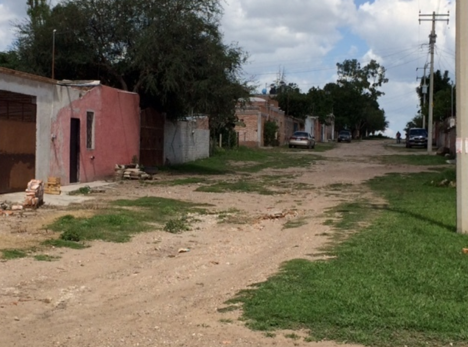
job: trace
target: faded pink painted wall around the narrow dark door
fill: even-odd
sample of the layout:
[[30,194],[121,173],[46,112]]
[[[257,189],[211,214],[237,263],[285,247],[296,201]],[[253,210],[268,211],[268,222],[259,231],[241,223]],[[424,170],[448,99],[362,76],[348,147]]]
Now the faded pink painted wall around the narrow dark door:
[[[70,88],[70,87],[69,87]],[[115,164],[129,164],[140,151],[139,96],[100,85],[60,109],[52,121],[50,175],[70,183],[70,123],[80,119],[79,182],[112,177]],[[86,148],[86,113],[94,112],[94,148]]]

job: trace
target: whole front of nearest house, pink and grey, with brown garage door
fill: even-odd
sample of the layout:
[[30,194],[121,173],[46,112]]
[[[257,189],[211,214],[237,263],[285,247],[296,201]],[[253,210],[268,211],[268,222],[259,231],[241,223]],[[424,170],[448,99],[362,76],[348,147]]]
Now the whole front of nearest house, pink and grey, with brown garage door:
[[31,179],[113,175],[139,156],[139,96],[99,81],[56,81],[0,68],[0,193]]

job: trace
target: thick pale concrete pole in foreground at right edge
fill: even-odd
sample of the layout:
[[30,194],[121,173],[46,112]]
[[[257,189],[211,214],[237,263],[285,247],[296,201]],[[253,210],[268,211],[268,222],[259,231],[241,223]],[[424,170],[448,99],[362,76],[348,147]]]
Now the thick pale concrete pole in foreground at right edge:
[[456,9],[457,233],[468,234],[468,2],[457,0]]

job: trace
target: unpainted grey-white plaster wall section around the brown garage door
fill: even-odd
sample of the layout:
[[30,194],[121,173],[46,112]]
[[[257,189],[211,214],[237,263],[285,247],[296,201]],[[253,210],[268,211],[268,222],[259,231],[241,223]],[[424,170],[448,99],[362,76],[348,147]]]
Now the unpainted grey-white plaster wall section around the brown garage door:
[[80,91],[1,71],[0,90],[36,97],[36,178],[47,180],[50,167],[52,120],[56,119],[57,112],[61,108],[79,98]]

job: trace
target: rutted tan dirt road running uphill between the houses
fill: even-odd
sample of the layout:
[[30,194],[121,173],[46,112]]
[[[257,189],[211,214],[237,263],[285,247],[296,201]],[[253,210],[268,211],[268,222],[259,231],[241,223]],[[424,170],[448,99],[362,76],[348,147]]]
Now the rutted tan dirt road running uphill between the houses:
[[[296,209],[308,224],[291,229],[283,229],[284,220],[230,225],[207,216],[196,230],[180,235],[152,232],[124,244],[55,249],[49,254],[60,255],[57,262],[2,262],[0,346],[335,346],[279,333],[266,337],[237,321],[238,311],[217,309],[239,290],[275,273],[282,262],[318,252],[327,242],[321,235],[329,231],[322,224],[323,212],[357,194],[327,187],[417,169],[370,160],[387,154],[395,152],[381,141],[338,144],[323,154],[329,160],[307,170],[288,170],[301,173],[298,181],[316,189],[280,196],[201,193],[194,191],[196,186],[130,190],[131,185],[122,185],[115,196],[194,200],[251,216]],[[185,247],[190,252],[177,253]]]

